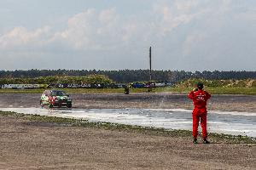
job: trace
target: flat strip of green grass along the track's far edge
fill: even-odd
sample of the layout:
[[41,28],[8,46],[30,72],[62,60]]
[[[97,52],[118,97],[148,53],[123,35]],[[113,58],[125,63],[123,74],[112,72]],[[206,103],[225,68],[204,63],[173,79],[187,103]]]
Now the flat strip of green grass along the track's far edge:
[[[58,89],[58,88],[55,88]],[[124,93],[124,88],[60,88],[68,94],[86,93]],[[0,94],[42,94],[44,88],[35,89],[0,89]],[[189,93],[191,88],[152,88],[150,93]],[[256,88],[206,88],[210,94],[245,94],[256,95]],[[148,93],[148,88],[130,88],[131,93]]]

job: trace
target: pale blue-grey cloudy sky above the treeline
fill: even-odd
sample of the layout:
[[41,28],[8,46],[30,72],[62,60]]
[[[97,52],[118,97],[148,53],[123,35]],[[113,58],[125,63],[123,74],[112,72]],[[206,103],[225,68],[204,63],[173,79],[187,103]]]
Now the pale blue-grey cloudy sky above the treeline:
[[0,70],[256,71],[255,0],[0,0]]

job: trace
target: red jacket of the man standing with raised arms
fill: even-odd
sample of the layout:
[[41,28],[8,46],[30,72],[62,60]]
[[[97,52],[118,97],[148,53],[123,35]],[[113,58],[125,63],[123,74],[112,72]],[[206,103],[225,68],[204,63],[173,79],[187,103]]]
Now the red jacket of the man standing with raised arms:
[[189,99],[193,99],[195,108],[205,108],[207,106],[207,99],[211,98],[211,94],[206,91],[198,89],[189,93]]

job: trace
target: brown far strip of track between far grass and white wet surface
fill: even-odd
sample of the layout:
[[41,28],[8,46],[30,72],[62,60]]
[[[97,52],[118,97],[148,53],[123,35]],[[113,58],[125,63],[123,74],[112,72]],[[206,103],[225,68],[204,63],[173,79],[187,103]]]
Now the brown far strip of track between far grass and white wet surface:
[[[40,107],[41,94],[0,94],[0,107]],[[74,108],[192,109],[187,94],[71,94]],[[255,95],[212,95],[210,111],[256,112]]]

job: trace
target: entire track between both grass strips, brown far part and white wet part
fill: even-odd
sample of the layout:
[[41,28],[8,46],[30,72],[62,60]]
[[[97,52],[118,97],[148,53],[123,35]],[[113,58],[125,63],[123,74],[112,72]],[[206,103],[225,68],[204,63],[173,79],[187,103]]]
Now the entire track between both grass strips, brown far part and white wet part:
[[[3,111],[67,116],[95,122],[191,130],[192,102],[187,94],[70,94],[72,110],[43,110],[41,94],[0,94]],[[6,109],[4,109],[6,108]],[[8,109],[9,108],[9,109]],[[212,95],[208,131],[255,137],[256,96]]]

